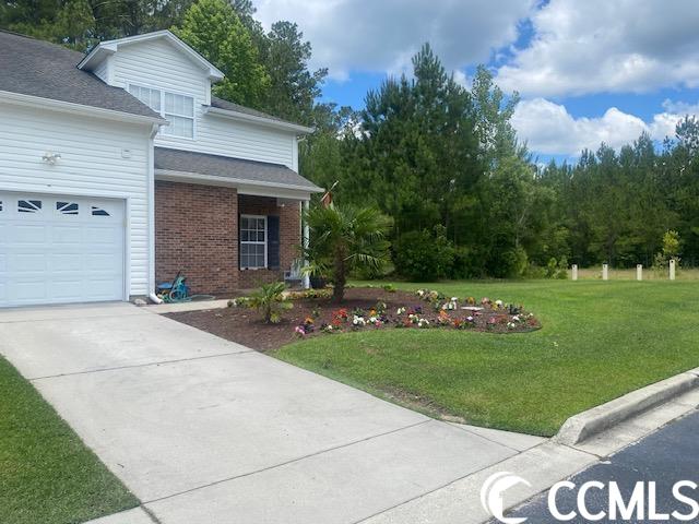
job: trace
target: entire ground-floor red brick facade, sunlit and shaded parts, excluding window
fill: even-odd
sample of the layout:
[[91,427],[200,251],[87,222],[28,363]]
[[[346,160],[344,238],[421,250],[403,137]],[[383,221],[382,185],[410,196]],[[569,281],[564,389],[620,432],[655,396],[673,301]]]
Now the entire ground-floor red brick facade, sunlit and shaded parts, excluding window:
[[[238,215],[280,216],[280,270],[238,270]],[[155,182],[155,277],[178,271],[196,294],[226,296],[284,277],[298,258],[300,204],[238,195],[235,188]]]

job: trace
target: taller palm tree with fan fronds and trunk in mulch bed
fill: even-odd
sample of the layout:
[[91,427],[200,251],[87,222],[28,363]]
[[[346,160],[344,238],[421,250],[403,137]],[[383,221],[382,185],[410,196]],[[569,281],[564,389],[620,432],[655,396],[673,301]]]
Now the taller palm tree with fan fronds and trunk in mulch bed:
[[311,207],[304,219],[310,229],[306,272],[330,276],[332,298],[341,302],[354,269],[379,271],[389,260],[391,219],[374,207]]

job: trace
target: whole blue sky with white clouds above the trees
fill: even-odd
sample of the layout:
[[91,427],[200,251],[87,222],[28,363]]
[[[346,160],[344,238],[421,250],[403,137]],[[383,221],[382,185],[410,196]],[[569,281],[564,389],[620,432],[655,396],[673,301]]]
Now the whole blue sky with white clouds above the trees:
[[469,85],[478,63],[522,102],[512,123],[542,160],[672,135],[699,114],[696,0],[257,0],[293,20],[328,67],[323,98],[359,108],[429,41]]

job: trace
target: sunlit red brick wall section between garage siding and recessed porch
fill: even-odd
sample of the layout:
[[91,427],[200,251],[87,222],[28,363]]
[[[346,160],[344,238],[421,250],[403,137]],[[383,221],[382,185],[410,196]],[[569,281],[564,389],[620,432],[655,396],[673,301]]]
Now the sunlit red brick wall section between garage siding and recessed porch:
[[238,194],[234,188],[155,182],[155,278],[178,271],[192,293],[238,288]]

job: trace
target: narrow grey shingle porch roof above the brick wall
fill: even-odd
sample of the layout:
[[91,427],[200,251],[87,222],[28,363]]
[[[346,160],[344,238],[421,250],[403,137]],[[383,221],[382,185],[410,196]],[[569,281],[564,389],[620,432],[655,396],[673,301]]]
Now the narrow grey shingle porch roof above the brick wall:
[[155,169],[197,172],[214,177],[235,178],[250,182],[297,186],[308,191],[320,191],[315,183],[296,171],[279,164],[244,160],[227,156],[208,155],[191,151],[155,147]]

